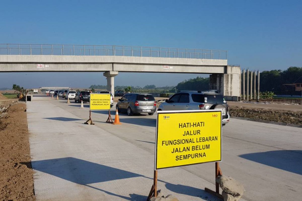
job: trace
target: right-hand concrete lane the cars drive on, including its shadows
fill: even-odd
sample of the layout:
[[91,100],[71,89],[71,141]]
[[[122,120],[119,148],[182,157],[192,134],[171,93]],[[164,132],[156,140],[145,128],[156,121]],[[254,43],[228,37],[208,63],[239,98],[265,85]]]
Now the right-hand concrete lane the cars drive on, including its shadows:
[[[88,119],[89,106],[67,105],[65,99],[53,104],[82,119]],[[111,115],[114,118],[114,108]],[[122,125],[104,123],[108,111],[92,112],[95,126],[154,153],[156,115],[120,114]],[[243,183],[246,200],[299,200],[302,189],[302,129],[231,119],[223,127],[223,174]],[[183,167],[214,184],[214,164]],[[160,173],[159,173],[160,175]]]

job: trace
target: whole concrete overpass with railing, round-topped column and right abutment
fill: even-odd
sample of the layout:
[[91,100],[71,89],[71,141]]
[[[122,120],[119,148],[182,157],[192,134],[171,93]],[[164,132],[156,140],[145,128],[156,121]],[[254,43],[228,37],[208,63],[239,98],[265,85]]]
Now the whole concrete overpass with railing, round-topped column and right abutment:
[[211,74],[211,89],[240,97],[240,67],[227,65],[224,50],[0,44],[0,72],[104,72],[112,94],[118,72]]

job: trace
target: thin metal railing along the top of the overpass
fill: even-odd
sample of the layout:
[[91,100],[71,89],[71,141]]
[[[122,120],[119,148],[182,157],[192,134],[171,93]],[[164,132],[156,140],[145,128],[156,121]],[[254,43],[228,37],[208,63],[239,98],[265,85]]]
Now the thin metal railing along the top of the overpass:
[[0,44],[0,55],[85,55],[227,59],[226,50],[107,45]]

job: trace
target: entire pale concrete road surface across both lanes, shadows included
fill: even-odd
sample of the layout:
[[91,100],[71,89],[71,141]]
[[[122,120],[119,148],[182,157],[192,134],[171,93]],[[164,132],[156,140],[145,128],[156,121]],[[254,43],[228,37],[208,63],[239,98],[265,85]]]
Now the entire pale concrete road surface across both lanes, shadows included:
[[[34,97],[27,103],[37,200],[145,200],[152,185],[156,115],[120,114]],[[115,112],[112,109],[111,114]],[[243,183],[246,200],[300,200],[301,128],[231,119],[223,127],[223,174]],[[215,200],[214,164],[159,171],[159,189],[179,200]]]

